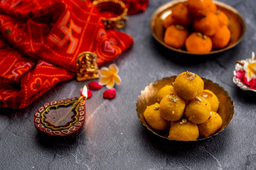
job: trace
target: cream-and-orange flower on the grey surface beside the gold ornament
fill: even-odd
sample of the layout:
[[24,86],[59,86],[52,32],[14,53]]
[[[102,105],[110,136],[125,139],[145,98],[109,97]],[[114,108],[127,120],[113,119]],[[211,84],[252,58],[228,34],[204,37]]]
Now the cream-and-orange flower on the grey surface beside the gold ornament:
[[102,86],[106,85],[107,89],[112,89],[114,82],[117,85],[121,84],[121,79],[117,75],[119,69],[116,64],[110,64],[108,68],[102,67],[98,72],[100,74],[99,84]]

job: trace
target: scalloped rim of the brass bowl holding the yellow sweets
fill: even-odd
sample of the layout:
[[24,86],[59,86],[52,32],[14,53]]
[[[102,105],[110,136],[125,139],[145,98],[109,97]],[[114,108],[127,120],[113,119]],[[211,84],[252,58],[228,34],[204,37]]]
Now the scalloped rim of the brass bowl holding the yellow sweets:
[[[151,82],[148,86],[145,86],[144,89],[140,92],[139,96],[138,96],[138,99],[137,99],[137,102],[136,102],[136,111],[137,111],[137,116],[139,118],[139,121],[142,123],[142,125],[144,125],[144,123],[142,122],[141,118],[139,117],[139,111],[138,111],[138,105],[139,105],[139,98],[140,96],[142,96],[143,92],[149,88],[149,86],[154,86],[154,84],[159,84],[161,81],[166,81],[166,80],[169,80],[169,79],[174,79],[176,78],[177,76],[176,75],[173,75],[171,77],[164,77],[163,79],[157,79],[156,81],[154,82]],[[206,139],[209,139],[210,137],[213,137],[215,135],[218,135],[220,132],[222,132],[225,128],[228,127],[228,125],[230,125],[230,122],[233,120],[233,116],[235,115],[235,106],[234,106],[234,102],[232,101],[232,98],[228,95],[228,91],[225,91],[225,89],[220,86],[219,84],[217,83],[214,83],[212,80],[210,79],[206,79],[205,77],[201,77],[201,79],[203,79],[203,81],[210,81],[210,83],[212,84],[215,84],[215,86],[218,86],[218,88],[221,89],[221,91],[224,92],[225,96],[228,96],[228,100],[230,101],[230,103],[232,104],[232,116],[231,116],[231,119],[230,121],[228,122],[228,124],[220,131],[218,131],[217,133],[213,134],[213,135],[210,135],[209,137],[203,137],[203,138],[198,138],[197,140],[191,140],[191,141],[183,141],[183,140],[171,140],[169,139],[168,137],[164,137],[162,135],[159,135],[158,133],[154,132],[153,130],[149,129],[146,125],[144,125],[144,127],[146,127],[147,130],[149,130],[150,132],[152,132],[154,135],[157,135],[161,138],[164,138],[166,140],[169,140],[169,141],[178,141],[178,142],[196,142],[196,141],[201,141],[201,140],[206,140]],[[143,113],[142,113],[143,114]],[[143,115],[144,117],[144,115]],[[145,120],[145,123],[146,123],[146,120]],[[149,125],[148,125],[149,126]],[[150,127],[150,126],[149,126]],[[159,130],[156,130],[156,131],[159,131]]]

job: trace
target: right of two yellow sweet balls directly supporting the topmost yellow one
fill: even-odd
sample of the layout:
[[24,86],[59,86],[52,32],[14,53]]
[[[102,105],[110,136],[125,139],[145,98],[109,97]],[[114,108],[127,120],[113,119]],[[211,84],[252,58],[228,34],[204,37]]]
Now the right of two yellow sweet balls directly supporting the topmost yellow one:
[[200,124],[208,120],[210,111],[210,103],[202,96],[196,96],[196,98],[187,103],[185,117],[188,118],[191,123]]

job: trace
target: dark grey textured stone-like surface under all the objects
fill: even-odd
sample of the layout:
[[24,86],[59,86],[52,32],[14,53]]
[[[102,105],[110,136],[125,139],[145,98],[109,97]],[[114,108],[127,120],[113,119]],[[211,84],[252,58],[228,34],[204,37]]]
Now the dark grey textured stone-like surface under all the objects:
[[[151,14],[166,2],[151,0],[144,13],[129,17],[122,31],[134,37],[134,45],[113,61],[122,78],[117,97],[105,100],[105,88],[94,91],[78,134],[43,136],[33,125],[33,114],[48,101],[79,96],[89,81],[58,84],[20,111],[0,108],[0,169],[256,169],[256,94],[241,91],[232,81],[235,60],[256,51],[256,1],[223,0],[245,18],[245,37],[232,50],[199,59],[170,52],[151,36]],[[151,81],[187,70],[223,86],[235,103],[235,115],[228,128],[208,140],[166,141],[140,123],[137,96]]]

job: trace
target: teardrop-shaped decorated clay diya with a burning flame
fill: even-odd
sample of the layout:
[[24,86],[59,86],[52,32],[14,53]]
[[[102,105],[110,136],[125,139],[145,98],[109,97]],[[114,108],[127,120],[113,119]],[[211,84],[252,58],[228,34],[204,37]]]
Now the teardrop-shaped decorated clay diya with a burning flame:
[[44,104],[33,117],[36,128],[53,136],[67,136],[78,132],[85,123],[86,98],[85,86],[80,98],[67,98]]

